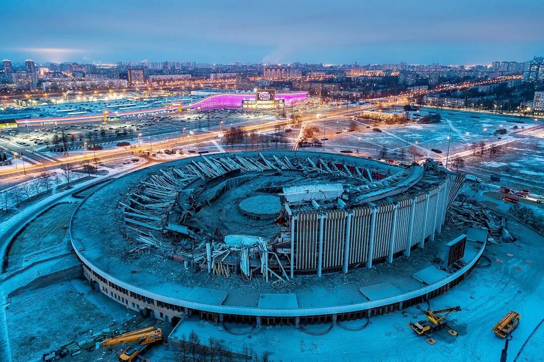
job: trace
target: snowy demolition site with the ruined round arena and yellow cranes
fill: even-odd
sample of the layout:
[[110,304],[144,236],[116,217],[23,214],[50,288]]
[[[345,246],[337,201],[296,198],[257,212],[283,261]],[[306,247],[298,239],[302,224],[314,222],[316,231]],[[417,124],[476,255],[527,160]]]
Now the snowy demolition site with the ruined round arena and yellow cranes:
[[533,360],[542,235],[418,161],[191,155],[22,212],[11,360]]

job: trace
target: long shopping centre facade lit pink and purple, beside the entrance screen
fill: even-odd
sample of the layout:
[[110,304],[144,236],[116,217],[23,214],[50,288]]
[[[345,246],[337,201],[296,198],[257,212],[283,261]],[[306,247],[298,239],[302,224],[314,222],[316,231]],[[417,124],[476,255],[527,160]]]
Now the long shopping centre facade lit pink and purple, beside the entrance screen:
[[[283,100],[286,106],[292,106],[295,103],[306,100],[306,92],[280,92],[276,93],[276,100]],[[165,113],[175,113],[189,109],[220,109],[220,108],[242,108],[244,101],[255,101],[255,93],[219,93],[209,95],[188,105],[174,103],[169,107],[140,109],[139,111],[108,113],[107,118],[135,118],[143,116],[152,116]],[[18,119],[18,127],[50,126],[58,124],[72,124],[82,122],[98,122],[103,119],[103,114],[91,114],[72,117],[38,118],[38,119]]]

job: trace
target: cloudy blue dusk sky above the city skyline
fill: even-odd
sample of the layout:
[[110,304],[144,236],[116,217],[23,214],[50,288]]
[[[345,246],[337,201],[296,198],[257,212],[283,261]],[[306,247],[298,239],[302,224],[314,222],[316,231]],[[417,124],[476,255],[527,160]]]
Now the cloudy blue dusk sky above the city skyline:
[[544,55],[541,0],[3,0],[20,62],[487,64]]

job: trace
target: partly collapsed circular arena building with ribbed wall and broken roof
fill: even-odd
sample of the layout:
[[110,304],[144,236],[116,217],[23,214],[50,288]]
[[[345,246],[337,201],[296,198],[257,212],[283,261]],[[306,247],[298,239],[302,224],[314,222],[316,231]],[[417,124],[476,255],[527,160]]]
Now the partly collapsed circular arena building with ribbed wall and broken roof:
[[[447,268],[423,268],[417,257],[436,249],[462,183],[432,161],[209,154],[104,184],[78,206],[70,236],[94,289],[142,314],[345,321],[419,303],[472,270],[484,248],[465,251],[464,242]],[[387,273],[372,273],[380,265]]]

